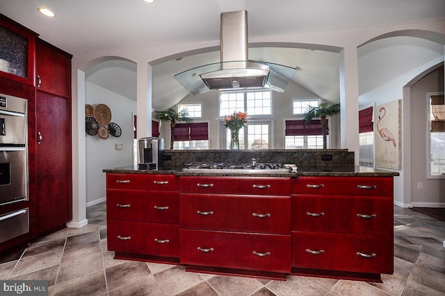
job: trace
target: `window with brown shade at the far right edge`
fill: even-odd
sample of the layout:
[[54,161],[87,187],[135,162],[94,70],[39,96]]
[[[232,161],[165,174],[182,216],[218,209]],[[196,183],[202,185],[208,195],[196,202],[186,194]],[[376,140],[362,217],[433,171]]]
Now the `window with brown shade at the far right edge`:
[[428,177],[445,177],[445,100],[444,94],[428,94],[428,127],[430,132]]

